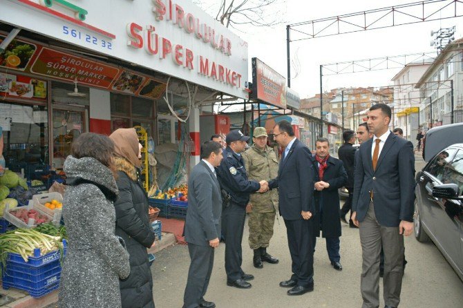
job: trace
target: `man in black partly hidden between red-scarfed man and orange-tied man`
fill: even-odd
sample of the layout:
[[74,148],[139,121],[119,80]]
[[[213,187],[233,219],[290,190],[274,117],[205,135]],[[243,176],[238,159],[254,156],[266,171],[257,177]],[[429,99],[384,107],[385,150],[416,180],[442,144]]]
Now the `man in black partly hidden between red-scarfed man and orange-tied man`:
[[[355,132],[351,131],[350,129],[346,129],[346,131],[343,133],[343,139],[344,144],[339,148],[338,157],[339,160],[343,162],[344,169],[348,175],[348,181],[345,187],[348,190],[349,195],[339,213],[341,215],[341,222],[345,222],[347,224],[348,222],[346,221],[346,215],[352,207],[352,195],[354,195],[354,164],[355,152],[357,151],[357,149],[353,146],[353,144],[355,144]],[[355,224],[350,218],[349,226],[355,228]]]

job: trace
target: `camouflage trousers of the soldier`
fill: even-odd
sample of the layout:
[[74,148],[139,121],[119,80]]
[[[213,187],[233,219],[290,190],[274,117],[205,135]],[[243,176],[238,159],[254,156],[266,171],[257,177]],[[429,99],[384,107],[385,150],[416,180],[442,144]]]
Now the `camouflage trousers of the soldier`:
[[269,247],[270,239],[273,235],[273,226],[275,222],[275,212],[248,214],[249,220],[249,247],[258,249]]

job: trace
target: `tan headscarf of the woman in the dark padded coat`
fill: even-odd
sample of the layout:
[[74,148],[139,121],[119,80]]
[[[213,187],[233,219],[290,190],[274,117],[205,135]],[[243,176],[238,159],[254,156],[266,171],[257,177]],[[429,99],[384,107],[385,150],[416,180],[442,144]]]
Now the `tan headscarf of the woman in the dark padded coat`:
[[114,142],[115,156],[125,158],[140,168],[142,163],[138,159],[139,142],[135,128],[117,128],[109,137]]

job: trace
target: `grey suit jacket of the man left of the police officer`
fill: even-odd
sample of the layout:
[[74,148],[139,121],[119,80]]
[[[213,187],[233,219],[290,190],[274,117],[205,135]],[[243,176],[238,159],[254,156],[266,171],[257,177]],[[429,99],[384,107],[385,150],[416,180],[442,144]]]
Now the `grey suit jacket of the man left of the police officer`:
[[220,238],[222,195],[216,175],[203,161],[194,166],[188,181],[188,211],[185,241],[209,246],[209,240]]

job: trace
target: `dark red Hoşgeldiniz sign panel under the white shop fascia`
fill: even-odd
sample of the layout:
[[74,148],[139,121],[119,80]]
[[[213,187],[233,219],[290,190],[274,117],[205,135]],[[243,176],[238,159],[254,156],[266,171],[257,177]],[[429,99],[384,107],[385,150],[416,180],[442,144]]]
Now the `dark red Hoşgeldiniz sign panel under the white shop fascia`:
[[108,88],[119,71],[112,66],[45,47],[41,48],[30,68],[31,73],[68,81],[77,78],[79,84],[101,88]]

